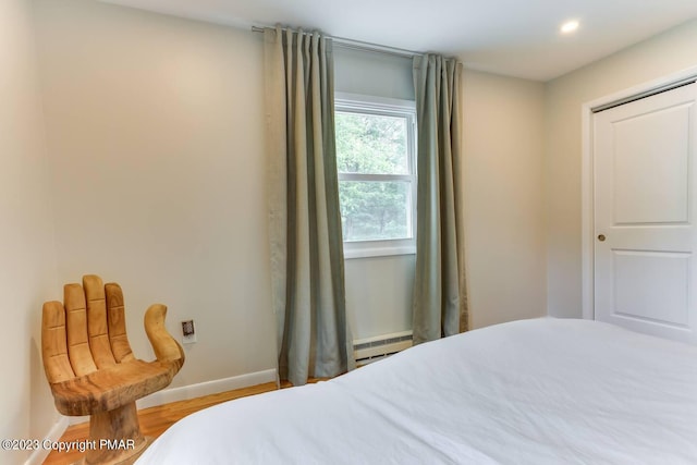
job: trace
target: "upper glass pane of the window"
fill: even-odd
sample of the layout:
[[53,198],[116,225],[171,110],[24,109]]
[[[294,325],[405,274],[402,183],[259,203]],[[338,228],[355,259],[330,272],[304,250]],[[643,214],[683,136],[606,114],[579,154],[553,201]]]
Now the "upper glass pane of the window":
[[340,173],[408,174],[406,118],[335,113]]

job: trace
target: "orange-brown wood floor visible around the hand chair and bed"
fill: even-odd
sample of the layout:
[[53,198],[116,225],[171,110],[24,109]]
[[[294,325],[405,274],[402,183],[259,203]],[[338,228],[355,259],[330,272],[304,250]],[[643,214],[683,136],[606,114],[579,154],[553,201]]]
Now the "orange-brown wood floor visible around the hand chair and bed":
[[[310,382],[316,380],[310,380]],[[286,388],[290,384],[283,384]],[[254,386],[252,388],[237,389],[234,391],[221,392],[219,394],[206,395],[204,397],[192,399],[188,401],[173,402],[171,404],[159,405],[157,407],[144,408],[138,412],[140,421],[140,430],[145,436],[157,438],[174,421],[185,417],[186,415],[198,412],[211,405],[220,404],[233,399],[240,399],[247,395],[259,394],[262,392],[276,390],[274,382]],[[65,430],[61,437],[61,441],[84,441],[89,436],[89,424],[73,425]],[[44,462],[45,465],[68,465],[77,462],[84,454],[76,451],[59,453],[52,451]]]

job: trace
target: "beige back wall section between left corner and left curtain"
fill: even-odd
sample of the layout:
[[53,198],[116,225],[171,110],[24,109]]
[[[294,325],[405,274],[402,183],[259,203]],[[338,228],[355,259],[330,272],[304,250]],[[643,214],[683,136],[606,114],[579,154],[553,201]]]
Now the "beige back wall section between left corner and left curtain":
[[119,281],[198,342],[172,387],[276,368],[260,35],[94,1],[37,1],[61,282]]

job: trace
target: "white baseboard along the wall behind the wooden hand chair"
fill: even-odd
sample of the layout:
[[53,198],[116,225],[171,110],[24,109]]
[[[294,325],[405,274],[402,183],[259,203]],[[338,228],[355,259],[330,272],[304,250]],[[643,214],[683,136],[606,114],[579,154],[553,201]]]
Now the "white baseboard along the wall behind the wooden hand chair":
[[[189,399],[201,397],[204,395],[217,394],[219,392],[232,391],[233,389],[249,388],[252,386],[264,384],[266,382],[278,383],[276,368],[256,371],[246,375],[233,376],[230,378],[217,379],[213,381],[199,382],[196,384],[182,386],[180,388],[163,389],[154,392],[136,402],[138,408],[155,407],[157,405],[169,404],[171,402],[187,401]],[[61,416],[53,425],[49,433],[44,439],[51,441],[60,440],[65,429],[71,425],[88,421],[88,416],[66,417]],[[44,463],[50,451],[34,451],[25,465],[40,465]]]

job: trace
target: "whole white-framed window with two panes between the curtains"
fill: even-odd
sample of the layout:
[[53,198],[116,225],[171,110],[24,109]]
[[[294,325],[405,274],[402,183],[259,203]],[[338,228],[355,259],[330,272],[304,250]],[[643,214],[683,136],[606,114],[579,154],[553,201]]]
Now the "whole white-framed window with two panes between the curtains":
[[345,257],[414,254],[414,102],[338,94],[334,107]]

